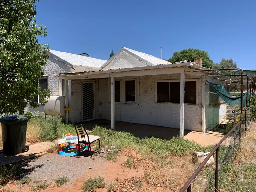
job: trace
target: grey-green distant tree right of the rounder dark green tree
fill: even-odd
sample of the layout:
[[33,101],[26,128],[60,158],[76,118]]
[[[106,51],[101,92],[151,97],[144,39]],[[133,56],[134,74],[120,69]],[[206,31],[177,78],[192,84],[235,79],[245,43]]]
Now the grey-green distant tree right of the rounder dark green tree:
[[[228,69],[228,68],[237,68],[236,62],[233,62],[232,59],[224,59],[220,61],[220,64],[213,63],[213,69]],[[236,71],[234,70],[223,70],[220,71],[223,75],[235,75]]]

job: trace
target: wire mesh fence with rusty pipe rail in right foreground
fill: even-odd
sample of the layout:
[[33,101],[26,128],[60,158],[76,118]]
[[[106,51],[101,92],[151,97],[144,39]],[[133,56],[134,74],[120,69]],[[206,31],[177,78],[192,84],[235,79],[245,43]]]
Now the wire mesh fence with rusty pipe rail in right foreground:
[[[210,154],[199,165],[180,192],[185,191],[219,191],[223,186],[227,188],[231,179],[232,161],[240,148],[241,134],[244,126],[238,122],[222,140],[212,149]],[[209,165],[207,161],[214,156],[215,164]],[[232,186],[230,186],[231,188]],[[231,191],[231,190],[230,190]]]

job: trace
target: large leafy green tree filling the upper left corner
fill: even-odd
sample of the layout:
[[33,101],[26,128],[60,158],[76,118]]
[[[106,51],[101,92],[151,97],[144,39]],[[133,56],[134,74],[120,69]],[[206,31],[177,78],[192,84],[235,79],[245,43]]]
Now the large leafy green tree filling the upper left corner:
[[47,102],[49,90],[41,91],[38,78],[43,75],[49,45],[37,36],[47,28],[36,24],[38,0],[2,0],[0,3],[0,114],[22,111],[27,104],[38,107],[33,98]]

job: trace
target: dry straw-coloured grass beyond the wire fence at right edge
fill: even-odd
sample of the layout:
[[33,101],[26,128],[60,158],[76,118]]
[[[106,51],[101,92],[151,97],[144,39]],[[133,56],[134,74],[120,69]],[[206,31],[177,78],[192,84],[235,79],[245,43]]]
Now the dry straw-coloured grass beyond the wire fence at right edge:
[[238,162],[252,162],[253,157],[256,157],[256,122],[252,121],[250,125],[247,136],[243,136],[241,140],[241,149],[236,158]]

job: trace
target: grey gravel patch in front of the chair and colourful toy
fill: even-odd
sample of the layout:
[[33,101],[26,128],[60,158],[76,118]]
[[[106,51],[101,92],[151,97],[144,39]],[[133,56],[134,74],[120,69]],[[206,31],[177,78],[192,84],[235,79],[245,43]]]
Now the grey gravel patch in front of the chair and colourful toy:
[[52,181],[66,176],[70,181],[84,175],[89,167],[99,170],[104,158],[93,160],[84,156],[68,156],[49,153],[23,162],[23,172],[33,179]]

